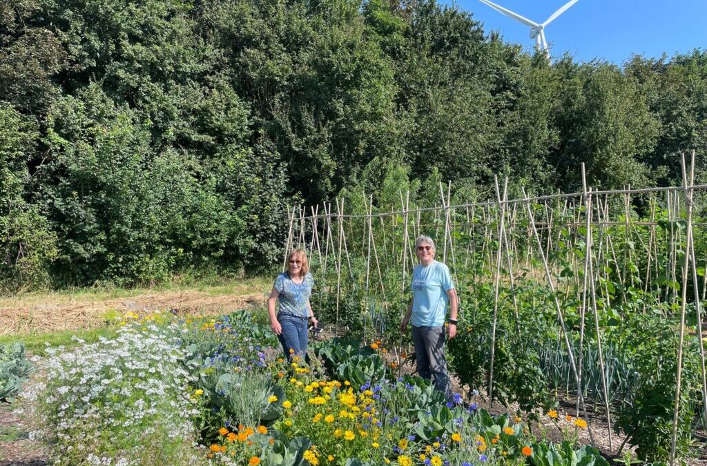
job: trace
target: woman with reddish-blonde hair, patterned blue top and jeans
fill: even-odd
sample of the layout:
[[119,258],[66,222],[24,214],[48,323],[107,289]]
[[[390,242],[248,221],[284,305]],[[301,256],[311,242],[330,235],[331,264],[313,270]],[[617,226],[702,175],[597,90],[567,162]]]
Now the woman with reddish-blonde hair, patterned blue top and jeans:
[[[312,312],[314,279],[309,273],[307,255],[300,249],[293,250],[287,256],[287,270],[279,274],[267,301],[270,316],[270,328],[277,335],[287,357],[307,354],[307,323],[317,327],[319,322]],[[279,301],[279,312],[275,312],[275,303]]]

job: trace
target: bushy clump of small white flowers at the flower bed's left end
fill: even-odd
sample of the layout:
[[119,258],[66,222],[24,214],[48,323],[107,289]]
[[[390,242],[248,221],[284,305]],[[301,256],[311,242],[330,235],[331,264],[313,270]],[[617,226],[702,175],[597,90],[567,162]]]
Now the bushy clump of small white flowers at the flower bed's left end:
[[[83,342],[82,342],[83,343]],[[55,464],[136,464],[141,448],[191,445],[199,411],[175,328],[124,327],[115,339],[49,349],[44,386],[31,393],[56,445]],[[168,447],[165,447],[168,448]]]

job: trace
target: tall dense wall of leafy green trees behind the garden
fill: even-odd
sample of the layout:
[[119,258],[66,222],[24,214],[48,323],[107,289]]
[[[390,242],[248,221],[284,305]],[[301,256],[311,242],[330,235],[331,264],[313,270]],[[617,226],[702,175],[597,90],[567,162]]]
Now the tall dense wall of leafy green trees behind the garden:
[[0,0],[0,286],[257,269],[391,166],[665,185],[706,115],[705,52],[548,64],[429,0]]

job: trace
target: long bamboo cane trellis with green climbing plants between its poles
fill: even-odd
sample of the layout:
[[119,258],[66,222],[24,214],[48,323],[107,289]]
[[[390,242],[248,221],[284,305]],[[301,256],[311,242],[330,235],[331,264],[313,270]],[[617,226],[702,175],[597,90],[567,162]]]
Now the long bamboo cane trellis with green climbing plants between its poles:
[[[373,196],[361,195],[360,199],[347,202],[355,204],[351,213],[344,209],[344,199],[335,199],[321,206],[288,209],[288,236],[286,251],[300,247],[308,252],[311,271],[317,281],[320,303],[322,296],[336,295],[336,324],[339,327],[339,308],[345,284],[358,286],[366,297],[366,305],[376,301],[381,313],[390,306],[397,306],[392,296],[402,303],[412,268],[416,263],[414,238],[421,233],[436,238],[438,260],[446,262],[460,283],[457,272],[468,272],[469,261],[478,262],[466,277],[472,284],[484,280],[479,270],[491,276],[493,284],[493,325],[491,330],[490,367],[487,395],[493,402],[493,349],[496,340],[498,306],[501,301],[499,286],[503,282],[510,290],[510,305],[515,329],[520,334],[519,303],[516,300],[516,279],[524,270],[526,279],[549,286],[554,296],[554,306],[559,325],[559,339],[569,359],[570,380],[575,384],[575,410],[584,414],[590,423],[586,400],[586,382],[583,368],[586,332],[596,336],[598,371],[600,371],[600,399],[603,416],[609,431],[609,449],[614,451],[612,439],[612,405],[607,386],[600,325],[601,306],[606,308],[614,301],[626,303],[631,288],[660,289],[658,303],[679,304],[679,335],[677,346],[677,371],[672,424],[671,465],[675,462],[682,361],[685,349],[685,322],[688,307],[694,308],[696,339],[699,341],[702,429],[707,429],[707,383],[705,349],[703,344],[703,315],[701,303],[707,293],[707,254],[696,256],[695,237],[707,238],[706,223],[695,221],[694,206],[707,202],[707,185],[694,185],[694,153],[688,167],[682,158],[683,184],[679,187],[654,187],[645,189],[593,190],[586,182],[582,165],[583,190],[572,194],[551,194],[529,197],[525,190],[517,199],[509,199],[508,179],[503,189],[496,180],[496,199],[486,202],[452,204],[452,185],[440,184],[440,202],[432,207],[411,207],[410,192],[399,192],[399,209],[375,211]],[[445,189],[446,188],[446,189]],[[696,202],[701,199],[701,203]],[[321,209],[320,209],[321,207]],[[320,211],[323,212],[320,214]],[[363,213],[361,213],[363,211]],[[642,211],[639,216],[638,211]],[[358,212],[358,213],[357,213]],[[662,218],[660,218],[662,216]],[[667,225],[667,228],[665,227]],[[621,233],[619,232],[621,229]],[[662,230],[665,230],[662,232]],[[621,243],[617,237],[621,235]],[[466,238],[466,243],[459,238]],[[640,249],[638,249],[640,247]],[[552,257],[562,256],[573,271],[573,279],[562,283]],[[643,261],[636,266],[636,262]],[[356,264],[362,265],[364,276],[356,276]],[[285,263],[284,263],[285,265]],[[613,267],[613,268],[612,268]],[[639,269],[637,278],[631,268]],[[643,274],[645,272],[645,274]],[[609,274],[617,276],[621,293],[609,293]],[[334,279],[335,275],[335,279]],[[703,276],[703,280],[699,276]],[[643,281],[643,283],[641,283]],[[665,283],[665,286],[662,284]],[[386,284],[389,286],[387,291]],[[679,284],[676,286],[675,284]],[[691,293],[688,289],[691,287]],[[679,293],[677,290],[679,289]],[[580,327],[576,334],[568,330],[561,296],[575,293],[579,305]],[[469,292],[471,308],[476,312],[478,293]],[[508,299],[508,298],[506,298]],[[614,303],[615,304],[615,303]],[[643,304],[643,312],[646,312]],[[400,314],[404,305],[399,305]],[[378,307],[371,305],[370,315],[378,315]],[[382,315],[382,314],[381,314]],[[380,317],[380,316],[379,316]],[[368,325],[364,319],[364,327]],[[373,319],[376,334],[385,334],[385,322]],[[395,322],[397,323],[397,322]],[[370,331],[370,329],[366,329]],[[460,330],[463,331],[463,330]],[[368,332],[364,331],[364,335]],[[610,343],[610,342],[609,342]],[[575,347],[577,344],[578,347]],[[568,388],[569,392],[569,388]],[[696,427],[699,427],[696,426]],[[594,442],[592,425],[588,426],[590,440]],[[619,447],[619,450],[623,447]]]

